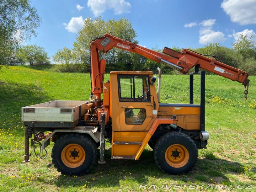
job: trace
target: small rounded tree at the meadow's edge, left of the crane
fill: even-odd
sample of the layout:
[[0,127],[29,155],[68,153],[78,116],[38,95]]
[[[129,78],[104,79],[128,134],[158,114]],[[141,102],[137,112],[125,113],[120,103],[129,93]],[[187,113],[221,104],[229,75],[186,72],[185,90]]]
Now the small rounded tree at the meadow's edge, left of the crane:
[[49,57],[43,47],[37,45],[23,46],[20,49],[19,57],[31,66],[34,64],[49,64]]

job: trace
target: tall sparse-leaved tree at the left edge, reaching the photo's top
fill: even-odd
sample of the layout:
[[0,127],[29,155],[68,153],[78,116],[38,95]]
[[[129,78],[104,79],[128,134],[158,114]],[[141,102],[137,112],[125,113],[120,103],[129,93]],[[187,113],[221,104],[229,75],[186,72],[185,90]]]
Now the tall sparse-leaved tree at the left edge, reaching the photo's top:
[[29,0],[0,0],[0,65],[8,64],[24,40],[37,35],[40,24]]

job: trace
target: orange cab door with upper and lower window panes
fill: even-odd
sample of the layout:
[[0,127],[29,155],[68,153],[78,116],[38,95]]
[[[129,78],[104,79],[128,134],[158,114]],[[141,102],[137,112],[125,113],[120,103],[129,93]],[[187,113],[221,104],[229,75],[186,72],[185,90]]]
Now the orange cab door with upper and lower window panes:
[[153,116],[149,75],[118,75],[120,131],[149,129]]

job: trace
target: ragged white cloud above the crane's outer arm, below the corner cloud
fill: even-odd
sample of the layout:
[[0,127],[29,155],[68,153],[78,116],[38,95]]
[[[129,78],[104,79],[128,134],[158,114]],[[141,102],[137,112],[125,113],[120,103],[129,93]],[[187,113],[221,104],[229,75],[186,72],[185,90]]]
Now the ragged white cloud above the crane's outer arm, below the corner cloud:
[[212,30],[213,25],[215,24],[215,19],[208,19],[202,21],[199,25],[203,27],[199,30],[199,43],[220,43],[226,41],[225,34],[220,31]]

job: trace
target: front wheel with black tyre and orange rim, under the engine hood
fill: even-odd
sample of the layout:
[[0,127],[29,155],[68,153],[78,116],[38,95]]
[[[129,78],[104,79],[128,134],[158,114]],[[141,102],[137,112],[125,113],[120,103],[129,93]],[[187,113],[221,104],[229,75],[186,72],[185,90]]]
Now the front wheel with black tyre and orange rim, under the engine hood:
[[163,172],[178,175],[187,173],[196,165],[198,150],[186,134],[170,132],[162,135],[156,142],[154,158]]

